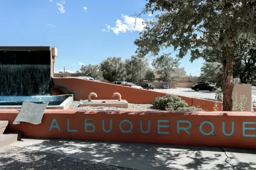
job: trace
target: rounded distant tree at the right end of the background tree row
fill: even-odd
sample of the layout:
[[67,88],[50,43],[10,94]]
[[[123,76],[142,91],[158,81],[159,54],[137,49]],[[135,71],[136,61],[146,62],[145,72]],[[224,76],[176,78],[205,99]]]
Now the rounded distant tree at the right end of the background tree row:
[[160,78],[158,78],[159,81],[177,81],[179,79],[180,75],[176,71],[179,67],[179,59],[173,59],[172,57],[169,57],[170,54],[163,54],[160,57],[156,58],[152,65],[155,68],[158,68],[157,74],[161,75]]

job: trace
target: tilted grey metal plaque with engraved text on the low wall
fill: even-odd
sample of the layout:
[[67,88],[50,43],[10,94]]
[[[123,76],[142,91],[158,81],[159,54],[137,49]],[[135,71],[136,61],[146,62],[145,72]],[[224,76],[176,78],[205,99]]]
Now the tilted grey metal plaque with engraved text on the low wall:
[[19,122],[28,122],[34,125],[40,124],[48,104],[49,102],[44,102],[41,104],[23,102],[22,108],[20,108],[13,124],[17,125]]

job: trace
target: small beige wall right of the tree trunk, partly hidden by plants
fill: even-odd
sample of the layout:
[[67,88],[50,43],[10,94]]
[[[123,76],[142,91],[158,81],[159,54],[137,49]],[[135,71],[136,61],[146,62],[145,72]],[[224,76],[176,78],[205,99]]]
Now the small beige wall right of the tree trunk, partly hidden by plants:
[[245,103],[244,111],[252,111],[252,101],[251,101],[251,84],[235,84],[233,88],[233,103],[237,94],[238,103],[240,103],[241,95],[245,95],[247,101]]

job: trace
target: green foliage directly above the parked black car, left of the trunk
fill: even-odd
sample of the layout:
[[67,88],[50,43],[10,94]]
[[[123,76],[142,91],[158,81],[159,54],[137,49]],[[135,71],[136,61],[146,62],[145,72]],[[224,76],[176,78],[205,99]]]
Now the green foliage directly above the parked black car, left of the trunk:
[[223,83],[223,69],[222,65],[218,62],[205,62],[201,67],[200,81],[206,81],[209,83],[216,83],[218,86],[222,86]]

